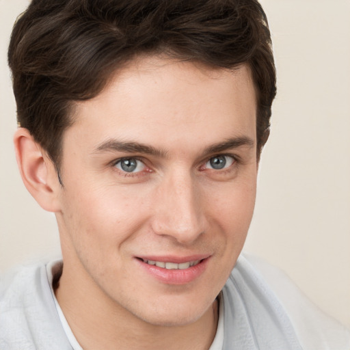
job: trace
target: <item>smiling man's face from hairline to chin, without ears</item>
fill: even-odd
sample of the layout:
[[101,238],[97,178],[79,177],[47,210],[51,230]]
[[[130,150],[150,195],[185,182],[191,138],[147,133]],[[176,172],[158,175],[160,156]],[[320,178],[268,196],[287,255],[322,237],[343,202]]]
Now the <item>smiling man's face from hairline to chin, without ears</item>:
[[137,62],[77,103],[62,152],[64,273],[89,297],[147,323],[203,317],[252,219],[249,70]]

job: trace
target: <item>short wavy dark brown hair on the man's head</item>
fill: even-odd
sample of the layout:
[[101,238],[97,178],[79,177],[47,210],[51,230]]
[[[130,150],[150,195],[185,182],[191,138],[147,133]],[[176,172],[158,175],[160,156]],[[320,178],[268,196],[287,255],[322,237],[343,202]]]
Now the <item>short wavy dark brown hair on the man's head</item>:
[[137,55],[218,68],[250,66],[258,153],[269,129],[275,66],[256,0],[33,0],[12,31],[8,62],[17,118],[57,170],[72,102],[96,96]]

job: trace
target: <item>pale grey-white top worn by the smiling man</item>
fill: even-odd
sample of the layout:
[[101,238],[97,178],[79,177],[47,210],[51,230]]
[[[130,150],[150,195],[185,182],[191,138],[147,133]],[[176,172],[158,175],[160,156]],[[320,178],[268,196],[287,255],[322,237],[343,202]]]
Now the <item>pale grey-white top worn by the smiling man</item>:
[[[52,290],[55,263],[25,267],[0,287],[1,350],[81,350]],[[210,350],[349,350],[349,331],[278,269],[241,256],[221,291]]]

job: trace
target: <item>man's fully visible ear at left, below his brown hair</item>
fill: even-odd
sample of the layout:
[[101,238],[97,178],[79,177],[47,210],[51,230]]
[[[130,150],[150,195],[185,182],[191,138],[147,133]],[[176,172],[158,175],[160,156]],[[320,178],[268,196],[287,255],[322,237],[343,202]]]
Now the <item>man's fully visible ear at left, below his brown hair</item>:
[[23,183],[31,196],[46,211],[59,211],[62,187],[51,159],[25,128],[16,130],[14,148]]

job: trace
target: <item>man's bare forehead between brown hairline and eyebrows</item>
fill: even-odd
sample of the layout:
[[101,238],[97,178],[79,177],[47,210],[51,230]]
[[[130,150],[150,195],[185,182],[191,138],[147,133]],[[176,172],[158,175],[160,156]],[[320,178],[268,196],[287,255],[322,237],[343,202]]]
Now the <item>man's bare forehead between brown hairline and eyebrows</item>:
[[95,98],[77,103],[64,139],[79,135],[90,148],[110,138],[154,146],[161,141],[163,148],[193,146],[199,136],[202,144],[237,136],[255,140],[255,119],[247,66],[228,71],[148,57],[113,74]]

